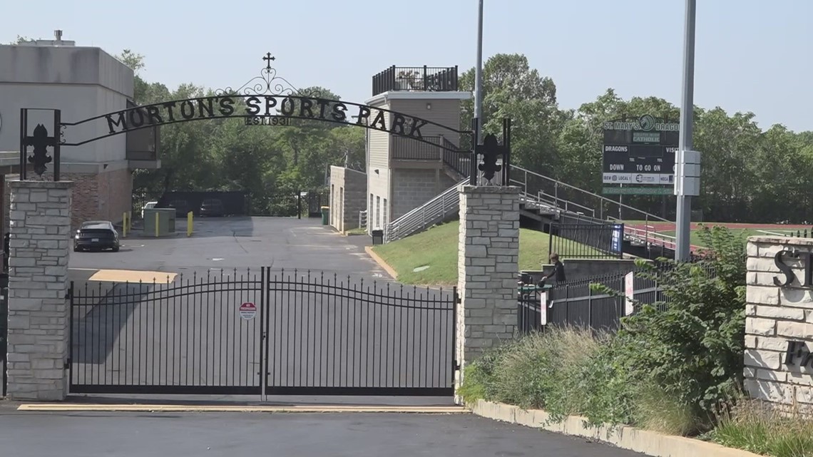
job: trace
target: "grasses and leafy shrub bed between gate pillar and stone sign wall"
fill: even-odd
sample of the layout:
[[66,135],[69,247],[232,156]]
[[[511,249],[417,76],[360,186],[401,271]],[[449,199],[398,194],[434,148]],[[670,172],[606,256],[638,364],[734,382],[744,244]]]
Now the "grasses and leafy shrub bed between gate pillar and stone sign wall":
[[680,435],[710,429],[741,385],[746,256],[743,238],[726,228],[702,237],[710,247],[699,262],[638,263],[667,301],[636,303],[612,337],[576,329],[522,337],[470,366],[463,391],[541,407],[554,420],[580,415]]

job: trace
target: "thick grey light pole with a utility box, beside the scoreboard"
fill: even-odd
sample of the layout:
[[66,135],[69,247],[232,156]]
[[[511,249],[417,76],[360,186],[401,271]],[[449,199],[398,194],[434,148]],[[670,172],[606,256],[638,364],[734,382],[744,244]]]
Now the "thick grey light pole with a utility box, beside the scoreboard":
[[694,24],[697,0],[686,0],[683,41],[683,95],[680,101],[680,142],[675,155],[675,195],[677,196],[675,260],[690,256],[692,196],[699,194],[700,154],[692,141],[694,119]]

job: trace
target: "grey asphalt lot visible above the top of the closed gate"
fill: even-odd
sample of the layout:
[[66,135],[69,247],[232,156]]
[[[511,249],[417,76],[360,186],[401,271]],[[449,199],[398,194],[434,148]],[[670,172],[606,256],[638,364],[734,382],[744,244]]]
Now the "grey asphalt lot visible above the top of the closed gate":
[[364,252],[368,237],[344,237],[321,219],[273,217],[198,218],[192,237],[179,221],[175,237],[139,233],[122,240],[119,252],[72,252],[74,281],[102,269],[190,275],[233,274],[261,267],[311,270],[386,280],[386,272]]

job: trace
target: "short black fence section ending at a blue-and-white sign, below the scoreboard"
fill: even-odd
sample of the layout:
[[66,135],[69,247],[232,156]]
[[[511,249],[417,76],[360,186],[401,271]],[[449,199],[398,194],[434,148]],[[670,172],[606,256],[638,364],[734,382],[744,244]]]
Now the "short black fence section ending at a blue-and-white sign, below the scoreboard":
[[620,259],[624,256],[624,224],[551,224],[551,253],[570,259]]

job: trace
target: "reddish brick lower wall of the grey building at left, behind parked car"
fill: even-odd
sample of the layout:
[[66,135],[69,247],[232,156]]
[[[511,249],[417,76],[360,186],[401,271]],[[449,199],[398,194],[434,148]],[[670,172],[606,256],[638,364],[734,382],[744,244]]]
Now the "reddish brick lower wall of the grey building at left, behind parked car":
[[[124,211],[130,211],[133,207],[133,172],[127,168],[99,174],[61,173],[59,178],[73,182],[72,228],[77,228],[84,220],[101,219],[119,223]],[[54,176],[46,172],[42,179],[52,180]],[[10,192],[11,187],[7,182],[4,201],[9,201]],[[8,206],[4,210],[5,220],[8,221]],[[3,233],[7,231],[8,223]]]

